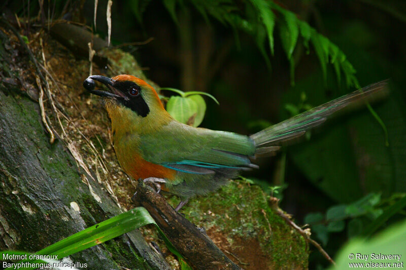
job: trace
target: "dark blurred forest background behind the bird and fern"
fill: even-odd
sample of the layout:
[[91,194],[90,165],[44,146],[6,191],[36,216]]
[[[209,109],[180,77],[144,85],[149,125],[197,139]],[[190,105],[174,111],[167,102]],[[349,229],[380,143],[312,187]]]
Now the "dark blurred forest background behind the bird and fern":
[[[27,13],[22,8],[27,1],[6,2],[5,7],[19,16]],[[31,16],[36,16],[38,3],[32,2]],[[162,1],[114,1],[111,40],[113,46],[131,52],[159,86],[215,96],[220,106],[206,99],[201,127],[250,134],[354,90],[347,87],[343,74],[337,80],[331,64],[323,78],[317,53],[313,47],[303,47],[300,37],[292,56],[293,74],[282,46],[282,29],[274,32],[274,56],[265,46],[264,57],[252,35],[210,15],[205,19],[188,1],[184,3],[174,21]],[[244,1],[233,3],[247,9]],[[244,175],[280,197],[282,209],[297,223],[310,223],[314,238],[334,256],[349,238],[376,232],[368,225],[375,222],[382,229],[405,215],[400,207],[380,219],[391,206],[399,205],[406,192],[406,4],[395,0],[275,3],[337,45],[356,69],[360,86],[391,79],[391,96],[373,105],[386,125],[389,146],[384,129],[364,109],[334,119],[276,157],[258,160],[261,169]],[[93,1],[58,2],[54,16],[76,18],[105,37],[106,7],[106,0],[98,1],[95,29]],[[276,16],[278,24],[280,15]],[[153,40],[145,45],[131,45],[150,37]],[[313,252],[309,267],[324,266],[321,255]]]

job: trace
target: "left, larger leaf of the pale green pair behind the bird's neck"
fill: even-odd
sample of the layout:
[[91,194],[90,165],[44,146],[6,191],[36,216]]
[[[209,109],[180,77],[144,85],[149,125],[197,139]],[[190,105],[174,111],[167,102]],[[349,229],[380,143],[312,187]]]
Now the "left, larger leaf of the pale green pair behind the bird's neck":
[[197,104],[188,97],[172,96],[166,103],[166,111],[183,124],[190,124],[197,115]]

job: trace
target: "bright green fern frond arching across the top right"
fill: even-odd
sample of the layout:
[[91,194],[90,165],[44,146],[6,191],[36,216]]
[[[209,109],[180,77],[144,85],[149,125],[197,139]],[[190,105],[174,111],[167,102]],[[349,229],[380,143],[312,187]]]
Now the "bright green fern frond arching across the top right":
[[[150,1],[133,1],[132,10],[138,20],[141,20],[142,13]],[[274,55],[274,30],[277,26],[279,27],[282,47],[291,65],[292,84],[294,83],[295,64],[292,55],[297,47],[300,36],[300,40],[306,48],[307,53],[310,53],[309,43],[313,45],[320,62],[324,80],[326,80],[327,76],[327,64],[330,63],[334,68],[339,85],[342,80],[342,73],[344,73],[347,87],[358,87],[358,81],[355,76],[356,71],[346,59],[345,54],[307,22],[298,19],[294,13],[282,8],[274,1],[242,0],[237,3],[232,0],[162,0],[162,2],[177,24],[177,6],[187,8],[187,4],[190,4],[206,21],[209,22],[210,16],[224,26],[231,27],[236,40],[238,40],[238,30],[253,36],[268,67],[270,67],[270,61],[265,44],[268,43],[270,55]]]

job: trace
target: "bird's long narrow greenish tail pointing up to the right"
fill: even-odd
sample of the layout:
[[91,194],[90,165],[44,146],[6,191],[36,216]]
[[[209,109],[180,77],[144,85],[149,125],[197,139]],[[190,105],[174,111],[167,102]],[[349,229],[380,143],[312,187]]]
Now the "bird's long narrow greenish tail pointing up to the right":
[[366,102],[382,99],[388,92],[388,82],[382,81],[259,131],[250,136],[255,142],[256,154],[278,150],[280,145],[303,136],[309,130],[323,124],[332,115],[354,109]]

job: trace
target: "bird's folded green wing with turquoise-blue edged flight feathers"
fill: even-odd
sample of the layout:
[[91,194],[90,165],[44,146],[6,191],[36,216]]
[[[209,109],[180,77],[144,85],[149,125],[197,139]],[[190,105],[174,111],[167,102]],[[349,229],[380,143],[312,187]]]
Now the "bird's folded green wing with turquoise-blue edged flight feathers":
[[249,159],[255,145],[248,136],[194,128],[177,121],[142,135],[140,149],[146,161],[186,173],[256,167]]

